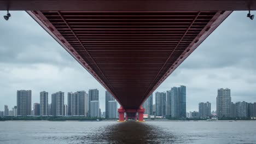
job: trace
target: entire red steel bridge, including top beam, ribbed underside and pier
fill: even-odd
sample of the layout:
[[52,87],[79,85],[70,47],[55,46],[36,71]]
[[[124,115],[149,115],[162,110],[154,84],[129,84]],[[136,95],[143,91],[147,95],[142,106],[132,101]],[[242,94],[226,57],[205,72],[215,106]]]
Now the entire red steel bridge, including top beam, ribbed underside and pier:
[[255,1],[1,1],[27,10],[121,105],[143,121],[144,100],[232,10]]

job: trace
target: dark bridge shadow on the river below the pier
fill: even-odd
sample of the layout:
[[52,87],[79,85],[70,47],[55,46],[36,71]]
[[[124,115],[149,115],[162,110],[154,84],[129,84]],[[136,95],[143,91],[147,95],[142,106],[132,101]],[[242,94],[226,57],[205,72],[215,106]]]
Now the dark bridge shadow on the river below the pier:
[[147,123],[125,122],[108,125],[95,137],[95,143],[172,143],[176,137]]

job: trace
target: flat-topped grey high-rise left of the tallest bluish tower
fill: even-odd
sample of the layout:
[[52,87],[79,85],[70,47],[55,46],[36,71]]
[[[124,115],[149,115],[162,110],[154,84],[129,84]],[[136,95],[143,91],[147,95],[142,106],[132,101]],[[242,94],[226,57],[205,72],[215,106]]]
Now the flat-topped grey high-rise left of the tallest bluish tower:
[[155,115],[166,116],[166,93],[155,93]]

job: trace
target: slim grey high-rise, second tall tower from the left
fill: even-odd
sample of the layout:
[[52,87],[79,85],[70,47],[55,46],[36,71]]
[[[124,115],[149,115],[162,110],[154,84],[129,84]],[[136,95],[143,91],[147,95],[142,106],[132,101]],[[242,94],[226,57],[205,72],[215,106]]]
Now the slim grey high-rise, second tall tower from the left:
[[40,92],[40,115],[47,116],[48,114],[48,92]]

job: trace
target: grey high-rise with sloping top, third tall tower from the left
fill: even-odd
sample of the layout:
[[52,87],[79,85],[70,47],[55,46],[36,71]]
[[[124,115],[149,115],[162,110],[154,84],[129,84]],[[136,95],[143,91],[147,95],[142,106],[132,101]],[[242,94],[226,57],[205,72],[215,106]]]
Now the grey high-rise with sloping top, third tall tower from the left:
[[51,114],[53,116],[64,116],[64,92],[51,94]]

